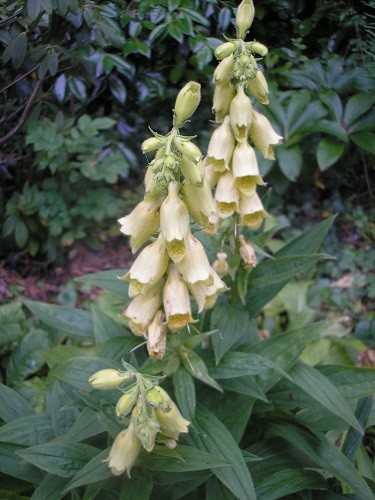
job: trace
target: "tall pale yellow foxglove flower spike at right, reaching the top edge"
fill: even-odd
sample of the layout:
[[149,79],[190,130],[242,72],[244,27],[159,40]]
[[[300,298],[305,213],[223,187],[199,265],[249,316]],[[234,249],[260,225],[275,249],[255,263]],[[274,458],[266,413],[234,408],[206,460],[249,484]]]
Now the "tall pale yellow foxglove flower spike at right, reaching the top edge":
[[220,218],[237,213],[240,225],[255,230],[267,212],[256,193],[257,185],[264,182],[253,146],[265,158],[273,159],[272,146],[282,137],[263,114],[253,109],[248,95],[268,104],[267,82],[256,59],[267,54],[267,47],[244,41],[253,19],[252,0],[243,0],[236,16],[237,39],[228,39],[215,50],[220,63],[214,73],[213,112],[220,126],[212,134],[204,167],[210,187],[216,187]]

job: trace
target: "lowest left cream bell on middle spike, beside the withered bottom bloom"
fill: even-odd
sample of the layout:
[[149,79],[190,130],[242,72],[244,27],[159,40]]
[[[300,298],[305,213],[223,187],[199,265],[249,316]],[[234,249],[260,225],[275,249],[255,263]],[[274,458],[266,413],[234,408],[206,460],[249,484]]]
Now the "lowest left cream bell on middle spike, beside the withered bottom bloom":
[[161,306],[163,284],[163,280],[160,280],[144,294],[138,295],[123,312],[122,316],[128,320],[129,328],[134,335],[139,337],[146,335],[147,328]]

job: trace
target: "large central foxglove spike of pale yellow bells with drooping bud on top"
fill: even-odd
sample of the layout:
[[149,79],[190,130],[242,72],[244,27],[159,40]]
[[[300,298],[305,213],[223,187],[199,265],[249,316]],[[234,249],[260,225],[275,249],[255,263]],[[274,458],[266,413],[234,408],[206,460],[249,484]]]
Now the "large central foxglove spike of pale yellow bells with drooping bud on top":
[[177,97],[171,132],[166,136],[153,132],[144,141],[145,153],[156,152],[145,176],[144,200],[119,220],[133,252],[156,236],[121,278],[129,282],[133,299],[123,316],[135,335],[147,338],[149,354],[155,358],[164,355],[167,330],[178,332],[194,323],[190,295],[201,312],[213,307],[227,289],[190,225],[191,217],[213,233],[218,219],[204,178],[202,153],[193,137],[180,135],[178,128],[194,113],[199,100],[199,84],[188,83]]

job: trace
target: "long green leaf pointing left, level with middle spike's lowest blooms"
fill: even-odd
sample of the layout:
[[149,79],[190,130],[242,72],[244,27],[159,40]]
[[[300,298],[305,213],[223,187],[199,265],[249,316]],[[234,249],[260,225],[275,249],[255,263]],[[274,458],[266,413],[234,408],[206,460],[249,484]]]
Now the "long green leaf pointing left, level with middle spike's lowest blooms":
[[70,306],[57,306],[32,300],[24,300],[23,303],[37,318],[56,330],[80,340],[94,340],[93,324],[89,312]]

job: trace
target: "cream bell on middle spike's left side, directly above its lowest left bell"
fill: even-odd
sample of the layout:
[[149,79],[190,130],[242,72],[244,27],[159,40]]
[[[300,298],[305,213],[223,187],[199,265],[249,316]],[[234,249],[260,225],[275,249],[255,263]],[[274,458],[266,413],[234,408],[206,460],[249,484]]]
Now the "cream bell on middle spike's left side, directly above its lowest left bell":
[[129,297],[151,288],[163,276],[168,267],[168,253],[164,237],[147,245],[138,255],[129,272],[121,279],[129,281]]

